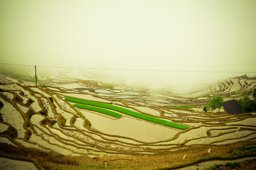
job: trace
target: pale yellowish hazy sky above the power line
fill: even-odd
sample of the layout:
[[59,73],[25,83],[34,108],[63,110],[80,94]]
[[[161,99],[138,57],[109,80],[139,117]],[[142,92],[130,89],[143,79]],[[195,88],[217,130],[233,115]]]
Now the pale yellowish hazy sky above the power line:
[[256,71],[256,0],[1,0],[1,62]]

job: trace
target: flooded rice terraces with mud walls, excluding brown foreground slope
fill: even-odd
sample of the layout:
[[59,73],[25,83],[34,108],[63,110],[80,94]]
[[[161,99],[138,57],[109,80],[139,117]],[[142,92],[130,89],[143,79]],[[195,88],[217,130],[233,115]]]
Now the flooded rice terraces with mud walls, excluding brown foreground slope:
[[[114,87],[104,82],[61,77],[32,82],[0,76],[0,142],[63,155],[158,155],[181,147],[223,145],[256,140],[255,113],[205,113],[215,96],[239,99],[256,87],[250,78],[230,78],[190,94]],[[103,102],[162,120],[187,125],[181,130],[129,115],[116,118],[74,106],[65,97]],[[188,105],[196,108],[180,109]],[[17,132],[17,135],[13,135]]]

